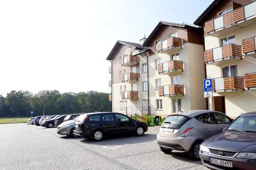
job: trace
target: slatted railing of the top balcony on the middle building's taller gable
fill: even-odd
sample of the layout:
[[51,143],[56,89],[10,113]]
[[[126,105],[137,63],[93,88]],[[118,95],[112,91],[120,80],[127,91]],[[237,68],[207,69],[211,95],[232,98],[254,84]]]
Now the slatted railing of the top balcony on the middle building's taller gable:
[[157,52],[167,50],[172,47],[182,47],[182,39],[179,37],[170,37],[157,43]]

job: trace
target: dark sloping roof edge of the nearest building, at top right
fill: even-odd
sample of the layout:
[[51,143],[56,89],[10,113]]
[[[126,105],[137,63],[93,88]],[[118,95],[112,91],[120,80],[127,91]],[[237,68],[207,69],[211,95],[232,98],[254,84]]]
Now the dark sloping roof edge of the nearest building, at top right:
[[198,26],[203,26],[206,18],[212,14],[220,5],[224,3],[224,0],[214,0],[209,7],[207,7],[204,12],[195,20],[194,24]]

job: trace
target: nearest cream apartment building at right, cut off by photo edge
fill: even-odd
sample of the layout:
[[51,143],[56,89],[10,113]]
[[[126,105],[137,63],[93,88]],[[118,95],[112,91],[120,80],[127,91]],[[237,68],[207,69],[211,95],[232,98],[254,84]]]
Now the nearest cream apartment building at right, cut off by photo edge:
[[215,0],[194,22],[204,27],[212,110],[237,117],[256,110],[256,2]]

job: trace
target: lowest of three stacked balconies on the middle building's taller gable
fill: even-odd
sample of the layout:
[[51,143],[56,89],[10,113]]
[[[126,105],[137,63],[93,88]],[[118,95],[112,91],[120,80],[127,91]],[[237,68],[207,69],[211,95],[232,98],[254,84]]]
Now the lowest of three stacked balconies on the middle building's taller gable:
[[158,87],[159,96],[177,96],[184,95],[184,85],[183,84],[172,84],[166,86]]

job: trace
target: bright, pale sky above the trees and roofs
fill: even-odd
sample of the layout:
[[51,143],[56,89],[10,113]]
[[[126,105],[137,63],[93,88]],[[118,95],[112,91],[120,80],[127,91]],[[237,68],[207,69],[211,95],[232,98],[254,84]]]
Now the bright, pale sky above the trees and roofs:
[[109,93],[117,40],[138,43],[160,20],[193,23],[212,1],[0,0],[0,94]]

